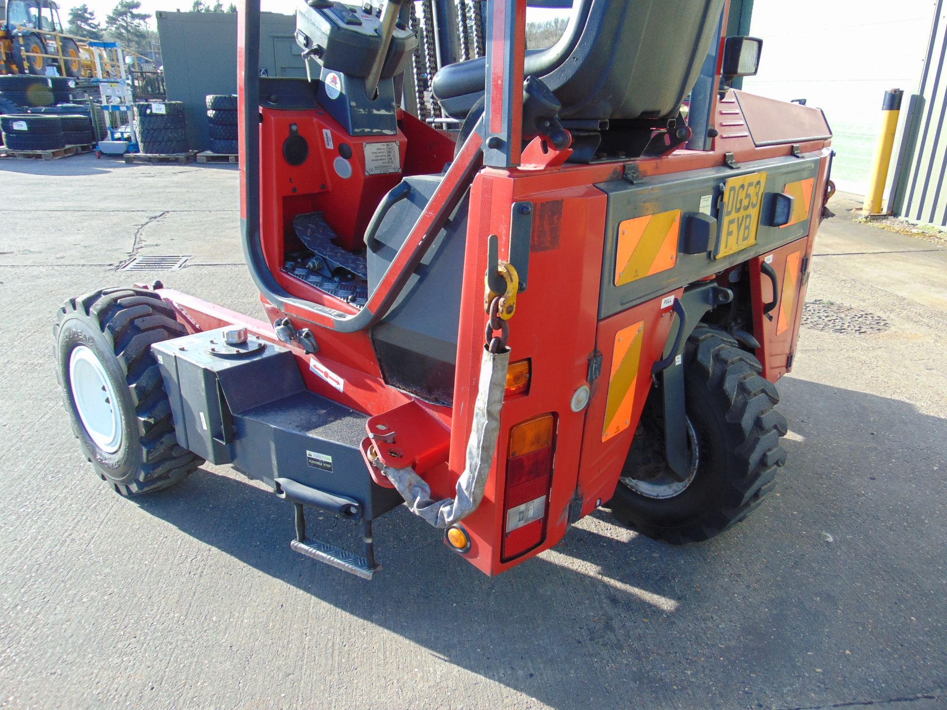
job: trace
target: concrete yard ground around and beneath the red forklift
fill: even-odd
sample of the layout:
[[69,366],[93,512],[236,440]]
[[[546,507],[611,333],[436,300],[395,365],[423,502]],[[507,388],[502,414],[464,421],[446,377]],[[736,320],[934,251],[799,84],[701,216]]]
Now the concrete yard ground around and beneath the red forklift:
[[[0,161],[0,189],[0,707],[947,705],[947,250],[836,198],[808,298],[890,328],[803,329],[789,460],[744,524],[673,548],[601,510],[490,579],[401,508],[365,583],[293,553],[289,507],[226,467],[119,498],[63,413],[67,296],[160,277],[261,315],[236,170]],[[116,272],[135,254],[191,259]]]

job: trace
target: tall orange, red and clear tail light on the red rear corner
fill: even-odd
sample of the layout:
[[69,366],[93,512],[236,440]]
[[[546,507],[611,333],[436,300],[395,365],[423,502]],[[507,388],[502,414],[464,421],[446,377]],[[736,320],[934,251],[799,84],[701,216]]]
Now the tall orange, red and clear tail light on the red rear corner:
[[502,559],[532,549],[545,537],[556,417],[540,415],[509,430],[507,485],[503,503]]

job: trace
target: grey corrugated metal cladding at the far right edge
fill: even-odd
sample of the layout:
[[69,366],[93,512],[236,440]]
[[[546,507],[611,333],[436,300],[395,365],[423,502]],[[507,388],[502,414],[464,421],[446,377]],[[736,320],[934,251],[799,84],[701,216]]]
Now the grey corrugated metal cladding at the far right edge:
[[[947,5],[938,0],[931,30],[914,126],[917,138],[913,156],[903,159],[901,192],[903,206],[897,213],[914,222],[947,226]],[[904,108],[907,108],[906,106]],[[907,144],[909,145],[909,143]],[[898,201],[900,202],[900,200]]]

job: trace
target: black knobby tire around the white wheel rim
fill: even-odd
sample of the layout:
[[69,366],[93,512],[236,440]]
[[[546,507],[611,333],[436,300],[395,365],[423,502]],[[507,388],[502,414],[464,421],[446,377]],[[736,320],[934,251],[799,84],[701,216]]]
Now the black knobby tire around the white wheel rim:
[[[73,432],[98,475],[122,495],[173,486],[204,462],[177,443],[151,350],[152,343],[183,335],[187,330],[174,319],[174,310],[156,293],[140,289],[102,289],[70,299],[53,326],[57,376]],[[69,364],[79,346],[95,354],[116,393],[122,439],[114,453],[93,441],[77,409]]]

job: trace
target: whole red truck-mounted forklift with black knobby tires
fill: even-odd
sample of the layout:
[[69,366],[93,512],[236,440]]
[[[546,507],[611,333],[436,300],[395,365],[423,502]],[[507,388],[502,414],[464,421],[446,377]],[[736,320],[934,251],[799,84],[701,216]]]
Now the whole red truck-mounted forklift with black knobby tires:
[[[825,116],[732,88],[762,43],[726,35],[728,0],[574,0],[528,51],[526,12],[309,0],[309,76],[277,79],[241,2],[241,240],[267,321],[160,282],[63,305],[65,408],[117,493],[231,464],[293,505],[293,549],[365,578],[402,504],[488,575],[602,506],[674,544],[759,506]],[[361,546],[309,538],[307,508]]]

